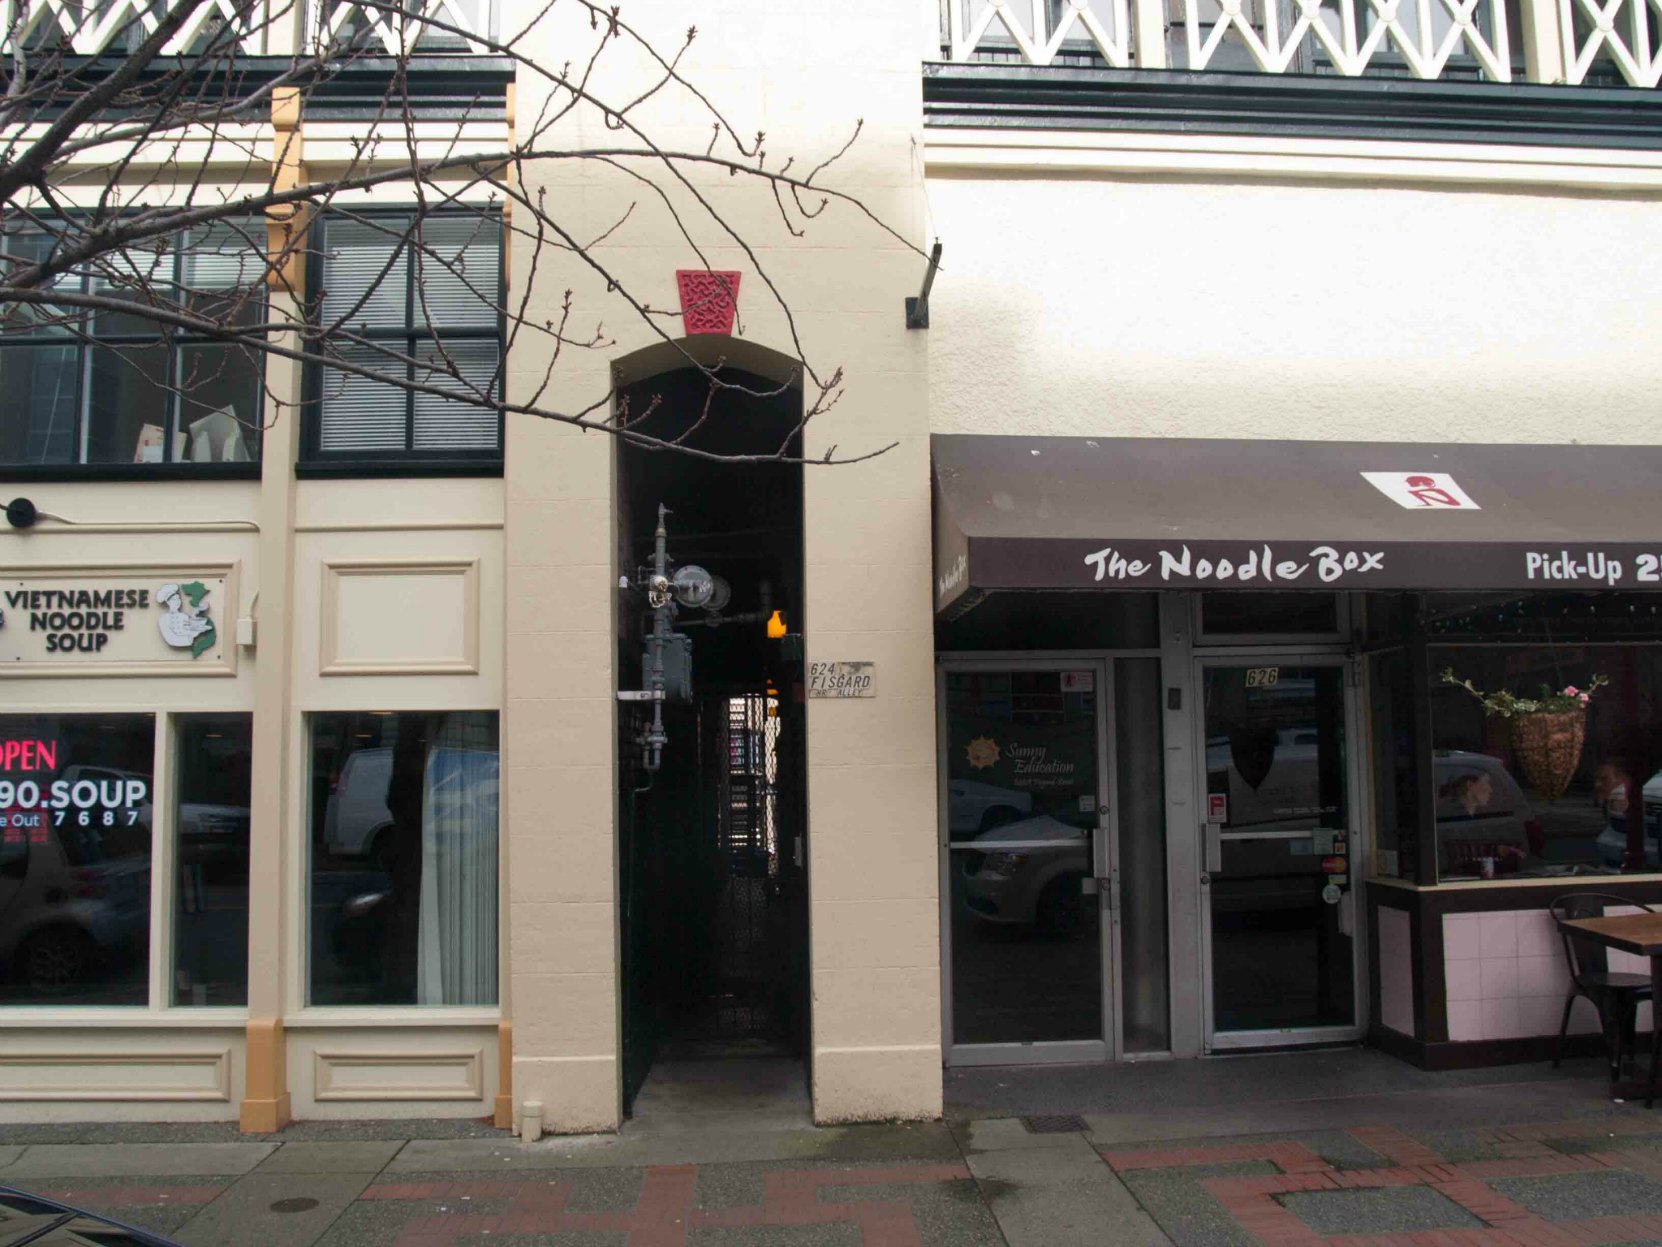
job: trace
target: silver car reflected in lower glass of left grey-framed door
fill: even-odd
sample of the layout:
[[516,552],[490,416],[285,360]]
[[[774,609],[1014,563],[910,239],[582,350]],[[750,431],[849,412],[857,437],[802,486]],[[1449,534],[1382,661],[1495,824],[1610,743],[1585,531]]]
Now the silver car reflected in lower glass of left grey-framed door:
[[956,856],[977,918],[1069,934],[1095,904],[1080,888],[1090,876],[1089,828],[1035,815],[989,828],[974,845]]

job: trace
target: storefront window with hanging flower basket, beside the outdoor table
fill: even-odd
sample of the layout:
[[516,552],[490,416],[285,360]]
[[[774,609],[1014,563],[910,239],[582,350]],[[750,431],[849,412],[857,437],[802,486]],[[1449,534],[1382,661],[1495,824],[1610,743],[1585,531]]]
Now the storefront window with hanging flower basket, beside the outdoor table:
[[[1539,605],[1529,604],[1526,617]],[[1429,668],[1443,881],[1662,868],[1662,647],[1431,645]],[[1441,678],[1443,670],[1517,697],[1539,697],[1542,687],[1589,688],[1601,675],[1609,683],[1584,712],[1546,732],[1486,715],[1476,697]]]

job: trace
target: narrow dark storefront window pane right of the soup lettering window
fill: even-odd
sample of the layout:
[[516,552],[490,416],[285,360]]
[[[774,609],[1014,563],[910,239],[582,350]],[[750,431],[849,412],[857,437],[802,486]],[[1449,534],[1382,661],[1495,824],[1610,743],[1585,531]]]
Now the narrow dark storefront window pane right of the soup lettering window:
[[173,1004],[248,1004],[249,715],[175,720]]

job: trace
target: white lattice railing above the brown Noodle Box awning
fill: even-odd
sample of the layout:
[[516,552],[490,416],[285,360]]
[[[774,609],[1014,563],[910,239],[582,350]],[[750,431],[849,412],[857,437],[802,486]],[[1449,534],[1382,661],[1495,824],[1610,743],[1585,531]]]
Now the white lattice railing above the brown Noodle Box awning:
[[942,53],[961,63],[1662,86],[1662,0],[941,0],[941,10]]

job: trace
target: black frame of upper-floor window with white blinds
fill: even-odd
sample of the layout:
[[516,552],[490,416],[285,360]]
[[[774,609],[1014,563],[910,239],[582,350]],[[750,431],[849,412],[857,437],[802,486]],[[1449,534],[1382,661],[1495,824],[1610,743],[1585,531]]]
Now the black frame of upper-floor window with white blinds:
[[[374,208],[354,209],[352,218],[397,221],[411,219],[420,209],[416,205],[377,205]],[[369,338],[382,341],[406,343],[406,354],[419,357],[416,347],[422,341],[442,336],[445,341],[494,341],[497,344],[497,384],[507,384],[507,273],[502,263],[502,246],[507,239],[507,223],[500,208],[480,205],[479,208],[437,209],[425,213],[427,219],[442,218],[492,218],[497,228],[497,323],[495,329],[484,328],[417,328],[416,301],[416,264],[407,263],[404,273],[404,324],[397,329],[369,326]],[[352,219],[344,218],[344,219]],[[324,264],[329,251],[329,213],[319,213],[309,226],[309,246],[306,258],[307,294],[326,289]],[[316,314],[322,316],[321,301],[316,303]],[[494,449],[437,449],[419,451],[412,447],[416,432],[416,396],[404,394],[404,449],[399,451],[324,451],[322,449],[322,399],[326,374],[329,369],[317,356],[316,346],[307,349],[304,377],[301,382],[302,417],[301,417],[301,454],[296,464],[296,476],[306,477],[359,477],[359,476],[502,476],[502,456],[507,442],[507,421],[497,412],[497,444]],[[412,366],[406,366],[412,367]]]

